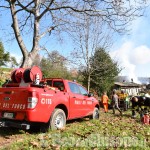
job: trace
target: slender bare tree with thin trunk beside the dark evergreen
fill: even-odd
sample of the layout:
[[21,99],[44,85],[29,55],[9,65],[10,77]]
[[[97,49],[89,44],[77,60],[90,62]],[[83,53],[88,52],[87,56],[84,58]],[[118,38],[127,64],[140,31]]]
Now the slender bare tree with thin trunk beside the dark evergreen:
[[73,60],[80,69],[84,70],[87,76],[87,89],[90,90],[90,80],[93,68],[90,65],[90,58],[94,56],[98,47],[108,48],[111,46],[113,32],[103,21],[97,17],[84,16],[82,21],[70,28],[70,36],[74,41],[75,51],[71,53]]

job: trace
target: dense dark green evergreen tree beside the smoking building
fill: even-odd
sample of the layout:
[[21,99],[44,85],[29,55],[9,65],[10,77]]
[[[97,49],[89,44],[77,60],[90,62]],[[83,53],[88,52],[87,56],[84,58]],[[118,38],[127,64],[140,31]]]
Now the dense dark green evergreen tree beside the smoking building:
[[[98,48],[90,58],[91,89],[100,96],[103,91],[110,91],[115,77],[121,71],[117,62],[114,62],[109,53],[103,48]],[[84,83],[87,82],[86,72],[83,71]]]

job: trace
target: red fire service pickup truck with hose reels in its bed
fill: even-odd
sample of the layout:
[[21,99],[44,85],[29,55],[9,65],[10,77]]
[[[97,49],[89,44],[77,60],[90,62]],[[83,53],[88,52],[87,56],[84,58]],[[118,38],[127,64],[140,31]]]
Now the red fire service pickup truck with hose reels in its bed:
[[37,66],[16,69],[11,79],[0,88],[1,126],[47,130],[65,127],[66,120],[99,118],[98,100],[76,82],[42,79]]

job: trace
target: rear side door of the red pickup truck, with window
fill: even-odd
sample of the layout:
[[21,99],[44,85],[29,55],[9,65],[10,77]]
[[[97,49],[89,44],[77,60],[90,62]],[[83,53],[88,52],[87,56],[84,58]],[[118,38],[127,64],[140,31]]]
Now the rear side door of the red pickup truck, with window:
[[[68,82],[70,88],[70,118],[84,116],[83,97],[76,83]],[[82,97],[82,98],[81,98]]]

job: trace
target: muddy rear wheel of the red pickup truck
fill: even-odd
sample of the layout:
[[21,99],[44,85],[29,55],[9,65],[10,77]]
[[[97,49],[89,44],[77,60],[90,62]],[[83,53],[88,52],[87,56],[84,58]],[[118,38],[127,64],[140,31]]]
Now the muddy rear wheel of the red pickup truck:
[[56,108],[50,118],[51,130],[64,128],[66,125],[66,115],[62,109]]

